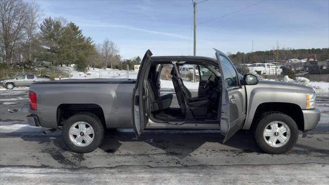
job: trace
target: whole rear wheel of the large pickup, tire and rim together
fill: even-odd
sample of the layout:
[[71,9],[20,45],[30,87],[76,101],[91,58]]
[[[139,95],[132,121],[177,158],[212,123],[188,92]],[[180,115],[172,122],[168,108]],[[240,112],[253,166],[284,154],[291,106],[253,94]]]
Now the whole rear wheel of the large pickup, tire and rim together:
[[91,113],[79,113],[67,119],[62,137],[73,152],[92,152],[103,142],[104,127],[100,119]]

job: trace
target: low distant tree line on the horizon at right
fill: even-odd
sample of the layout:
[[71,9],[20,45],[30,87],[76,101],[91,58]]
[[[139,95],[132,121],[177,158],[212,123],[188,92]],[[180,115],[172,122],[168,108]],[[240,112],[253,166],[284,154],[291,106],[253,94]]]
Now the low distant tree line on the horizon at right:
[[289,59],[305,59],[310,55],[316,54],[318,61],[329,59],[328,48],[312,49],[291,49],[281,48],[269,51],[254,51],[249,53],[237,52],[236,54],[227,53],[233,63],[256,63],[263,61],[286,61]]

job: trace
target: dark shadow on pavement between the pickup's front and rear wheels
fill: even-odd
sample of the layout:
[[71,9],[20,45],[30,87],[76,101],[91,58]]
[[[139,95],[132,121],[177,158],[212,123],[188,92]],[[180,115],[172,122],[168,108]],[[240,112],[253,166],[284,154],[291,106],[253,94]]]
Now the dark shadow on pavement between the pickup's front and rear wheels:
[[224,136],[217,132],[148,132],[143,133],[138,139],[136,139],[133,133],[126,133],[123,135],[120,133],[111,133],[105,136],[100,149],[107,153],[114,154],[124,142],[144,142],[153,146],[145,147],[145,153],[148,153],[148,150],[155,151],[159,149],[165,151],[167,155],[185,158],[202,147],[202,145],[212,143],[211,147],[207,149],[209,154],[218,153],[220,151],[230,151],[235,154],[261,152],[260,148],[253,141],[252,136],[245,132],[237,133],[224,145],[221,144],[223,139]]

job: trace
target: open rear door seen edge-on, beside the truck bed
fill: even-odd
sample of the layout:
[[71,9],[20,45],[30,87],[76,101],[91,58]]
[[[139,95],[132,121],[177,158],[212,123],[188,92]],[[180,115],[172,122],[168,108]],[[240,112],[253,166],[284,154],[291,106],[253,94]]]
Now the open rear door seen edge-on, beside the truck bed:
[[145,79],[145,73],[147,73],[147,70],[145,68],[147,67],[146,63],[148,62],[151,55],[152,52],[150,50],[148,50],[145,53],[143,60],[140,63],[136,85],[133,90],[132,123],[136,137],[139,137],[141,132],[144,130],[145,125],[148,124],[148,120],[149,120],[149,112],[148,112],[149,93],[147,89],[147,79]]

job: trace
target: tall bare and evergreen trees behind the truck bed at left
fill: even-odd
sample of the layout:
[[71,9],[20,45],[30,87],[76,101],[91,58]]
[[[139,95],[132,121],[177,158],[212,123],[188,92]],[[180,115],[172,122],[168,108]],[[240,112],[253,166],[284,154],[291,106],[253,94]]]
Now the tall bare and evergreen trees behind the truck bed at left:
[[0,62],[5,65],[33,64],[130,69],[140,58],[123,60],[119,47],[106,38],[101,44],[83,35],[79,26],[63,17],[43,15],[34,1],[0,0]]

